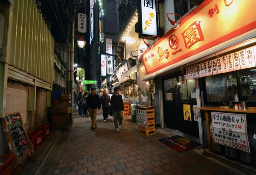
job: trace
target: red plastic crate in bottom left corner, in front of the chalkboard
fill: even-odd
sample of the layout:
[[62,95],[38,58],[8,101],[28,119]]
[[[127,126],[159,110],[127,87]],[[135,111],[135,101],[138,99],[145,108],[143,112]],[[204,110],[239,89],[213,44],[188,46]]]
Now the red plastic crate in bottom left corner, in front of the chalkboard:
[[0,165],[0,175],[12,175],[13,169],[13,155],[0,155],[0,159],[4,159],[4,162]]

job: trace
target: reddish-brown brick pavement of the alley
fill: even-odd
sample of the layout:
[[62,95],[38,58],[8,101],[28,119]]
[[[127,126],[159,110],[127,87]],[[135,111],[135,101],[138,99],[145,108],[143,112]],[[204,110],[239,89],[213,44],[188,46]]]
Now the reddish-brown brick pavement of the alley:
[[236,175],[233,170],[193,150],[178,153],[157,141],[166,135],[140,135],[124,117],[119,132],[113,117],[103,122],[98,111],[95,130],[90,118],[75,116],[55,175]]

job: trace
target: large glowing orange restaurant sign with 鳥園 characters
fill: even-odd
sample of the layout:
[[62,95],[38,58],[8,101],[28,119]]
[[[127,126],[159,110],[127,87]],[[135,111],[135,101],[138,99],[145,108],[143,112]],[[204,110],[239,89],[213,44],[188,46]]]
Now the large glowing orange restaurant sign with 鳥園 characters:
[[143,55],[147,74],[256,28],[255,0],[226,1],[205,0],[154,43]]

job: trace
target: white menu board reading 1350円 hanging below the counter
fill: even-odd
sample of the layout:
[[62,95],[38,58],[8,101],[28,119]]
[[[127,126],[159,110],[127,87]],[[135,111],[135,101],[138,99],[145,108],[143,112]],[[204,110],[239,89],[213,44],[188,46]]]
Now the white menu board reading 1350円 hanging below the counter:
[[214,142],[250,152],[246,124],[244,114],[212,112]]

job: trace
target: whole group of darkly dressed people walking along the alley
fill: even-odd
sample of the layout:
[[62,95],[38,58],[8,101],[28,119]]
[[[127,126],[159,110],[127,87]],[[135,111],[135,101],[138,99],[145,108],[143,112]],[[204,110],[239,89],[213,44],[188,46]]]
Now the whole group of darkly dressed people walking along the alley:
[[87,115],[87,109],[90,114],[90,118],[92,120],[91,129],[96,129],[96,118],[97,111],[102,108],[103,110],[103,120],[107,121],[109,111],[113,112],[114,123],[116,127],[116,131],[119,131],[122,125],[122,111],[124,110],[124,103],[122,100],[122,95],[119,95],[119,88],[114,88],[114,94],[111,96],[103,91],[101,97],[96,94],[96,89],[91,88],[91,94],[81,95],[79,92],[79,96],[77,98],[77,104],[79,105],[79,115],[85,117]]

